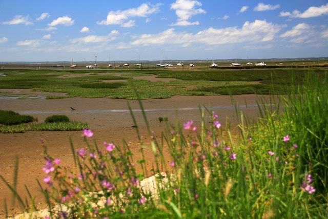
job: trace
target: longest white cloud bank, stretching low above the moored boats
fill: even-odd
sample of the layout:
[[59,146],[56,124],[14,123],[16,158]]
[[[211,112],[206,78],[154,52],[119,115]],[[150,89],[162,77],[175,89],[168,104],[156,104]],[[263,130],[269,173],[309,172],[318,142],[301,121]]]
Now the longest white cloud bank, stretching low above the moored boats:
[[223,29],[209,28],[196,34],[176,32],[171,28],[157,34],[141,34],[134,36],[131,45],[147,46],[151,44],[192,44],[222,45],[244,42],[269,42],[281,29],[266,21],[255,20],[253,23],[245,22],[241,29],[228,27]]

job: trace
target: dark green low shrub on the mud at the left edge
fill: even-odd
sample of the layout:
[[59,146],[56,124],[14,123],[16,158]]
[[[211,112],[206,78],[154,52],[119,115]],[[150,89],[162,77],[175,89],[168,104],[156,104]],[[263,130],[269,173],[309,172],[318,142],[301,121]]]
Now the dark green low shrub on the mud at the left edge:
[[0,110],[0,124],[11,126],[22,123],[30,123],[33,121],[36,121],[36,119],[30,115],[20,115],[19,113],[11,110]]

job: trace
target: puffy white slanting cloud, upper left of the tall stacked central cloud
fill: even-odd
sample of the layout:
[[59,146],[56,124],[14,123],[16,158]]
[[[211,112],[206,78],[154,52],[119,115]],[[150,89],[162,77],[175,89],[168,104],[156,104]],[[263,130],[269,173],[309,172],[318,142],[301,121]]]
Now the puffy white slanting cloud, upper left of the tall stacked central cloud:
[[110,11],[106,20],[98,21],[100,25],[121,25],[122,27],[132,27],[135,25],[135,21],[127,20],[130,17],[146,17],[149,14],[158,12],[160,4],[148,5],[141,4],[138,8],[130,8],[124,11]]

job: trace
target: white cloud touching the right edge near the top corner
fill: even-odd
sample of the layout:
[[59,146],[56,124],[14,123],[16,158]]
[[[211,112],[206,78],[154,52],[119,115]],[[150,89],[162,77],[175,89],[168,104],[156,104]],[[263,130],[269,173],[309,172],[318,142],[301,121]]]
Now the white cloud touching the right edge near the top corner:
[[300,17],[300,18],[309,18],[309,17],[318,17],[321,15],[328,14],[328,3],[326,5],[321,5],[320,7],[310,7],[306,9],[303,13],[298,10],[294,10],[292,13],[289,11],[280,12],[280,16],[288,16],[291,18]]

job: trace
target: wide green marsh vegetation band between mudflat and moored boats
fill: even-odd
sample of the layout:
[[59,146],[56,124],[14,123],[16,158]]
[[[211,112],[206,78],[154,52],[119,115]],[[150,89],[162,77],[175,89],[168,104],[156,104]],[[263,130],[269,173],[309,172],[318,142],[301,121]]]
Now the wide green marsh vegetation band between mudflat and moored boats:
[[[131,82],[135,84],[141,99],[169,98],[174,95],[270,94],[272,89],[276,93],[282,94],[284,86],[292,83],[294,85],[302,84],[307,71],[309,71],[308,68],[292,70],[288,68],[274,70],[202,69],[198,71],[101,70],[102,74],[100,74],[98,72],[92,73],[90,70],[6,69],[4,73],[7,76],[2,77],[0,88],[28,88],[66,94],[65,96],[49,96],[48,98],[80,96],[136,99]],[[312,68],[312,71],[322,73],[324,69]],[[153,74],[158,75],[158,77],[172,78],[172,81],[150,82],[145,79],[133,78],[133,76]],[[293,82],[291,81],[291,74],[293,74]],[[111,82],[112,80],[122,81]]]

